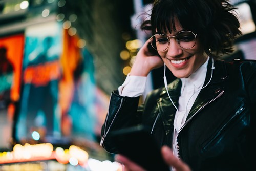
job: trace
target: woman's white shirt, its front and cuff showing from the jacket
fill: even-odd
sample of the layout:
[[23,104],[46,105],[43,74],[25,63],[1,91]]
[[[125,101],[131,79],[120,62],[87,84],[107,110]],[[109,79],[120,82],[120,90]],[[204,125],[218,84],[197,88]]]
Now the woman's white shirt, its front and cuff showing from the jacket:
[[[207,64],[209,57],[206,62],[188,78],[181,78],[182,87],[181,95],[179,98],[179,107],[178,111],[175,114],[174,118],[174,142],[173,149],[174,155],[177,156],[176,148],[176,137],[177,134],[185,123],[187,115],[194,104],[200,90],[203,87],[204,80],[206,77]],[[142,76],[130,76],[127,75],[124,83],[118,87],[119,95],[127,97],[138,97],[143,94],[146,85],[146,77]]]

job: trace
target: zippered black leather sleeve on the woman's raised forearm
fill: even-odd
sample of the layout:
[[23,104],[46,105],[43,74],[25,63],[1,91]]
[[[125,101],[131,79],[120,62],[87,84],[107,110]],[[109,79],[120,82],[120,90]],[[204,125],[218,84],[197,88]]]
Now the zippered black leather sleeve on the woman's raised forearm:
[[113,130],[141,123],[141,110],[138,110],[139,97],[123,97],[118,91],[110,96],[109,110],[101,128],[100,145],[109,153],[118,153],[110,134]]

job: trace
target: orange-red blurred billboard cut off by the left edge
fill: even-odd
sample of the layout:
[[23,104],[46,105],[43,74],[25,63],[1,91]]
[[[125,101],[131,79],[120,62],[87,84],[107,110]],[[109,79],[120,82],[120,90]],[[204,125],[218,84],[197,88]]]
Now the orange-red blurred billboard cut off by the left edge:
[[[14,46],[15,45],[15,46]],[[19,101],[24,35],[0,38],[0,148],[10,148],[16,103]]]

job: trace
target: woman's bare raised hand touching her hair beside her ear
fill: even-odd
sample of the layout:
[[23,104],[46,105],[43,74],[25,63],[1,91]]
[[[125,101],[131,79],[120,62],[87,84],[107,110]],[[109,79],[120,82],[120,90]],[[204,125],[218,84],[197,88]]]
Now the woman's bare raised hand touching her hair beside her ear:
[[147,76],[151,70],[163,66],[161,57],[150,52],[147,46],[151,46],[150,40],[147,40],[137,53],[130,75]]

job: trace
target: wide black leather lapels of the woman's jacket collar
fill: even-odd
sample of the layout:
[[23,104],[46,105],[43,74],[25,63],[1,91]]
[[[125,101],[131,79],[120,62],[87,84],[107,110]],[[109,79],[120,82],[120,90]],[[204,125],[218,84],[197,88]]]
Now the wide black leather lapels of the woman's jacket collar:
[[[220,83],[228,79],[228,74],[226,70],[226,65],[223,60],[214,60],[214,70],[212,71],[212,59],[210,58],[208,65],[207,65],[207,73],[206,78],[204,81],[203,87],[209,82],[209,84],[203,88],[195,103],[193,104],[188,117],[191,117],[196,111],[199,110],[200,106],[205,104],[206,102],[214,99],[218,96],[222,91],[223,88],[221,87]],[[212,72],[212,77],[211,77]],[[174,80],[172,83],[168,85],[168,92],[170,97],[172,98],[174,104],[178,107],[178,100],[180,96],[182,82],[179,78]],[[173,130],[173,122],[176,113],[176,109],[170,99],[165,89],[162,90],[160,93],[160,98],[157,100],[158,103],[158,110],[160,116],[162,118],[162,122],[164,125],[166,135]]]

